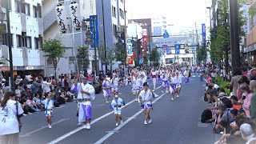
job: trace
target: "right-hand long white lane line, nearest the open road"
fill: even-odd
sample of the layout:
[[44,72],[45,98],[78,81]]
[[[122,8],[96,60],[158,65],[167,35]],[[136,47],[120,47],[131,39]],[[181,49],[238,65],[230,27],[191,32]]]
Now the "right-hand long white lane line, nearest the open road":
[[[160,97],[158,97],[157,99],[155,99],[152,103],[157,102],[158,99],[162,98],[164,94],[162,94]],[[112,136],[114,134],[114,131],[118,131],[120,130],[123,126],[125,126],[128,122],[130,122],[132,119],[136,118],[138,116],[138,114],[141,114],[144,110],[139,110],[138,113],[134,114],[131,118],[128,118],[125,122],[123,122],[121,125],[119,125],[118,127],[116,127],[114,130],[110,131],[110,133],[106,134],[104,137],[102,137],[101,139],[99,139],[97,142],[95,142],[94,144],[100,144],[104,141],[106,141],[107,138],[110,138],[110,136]]]

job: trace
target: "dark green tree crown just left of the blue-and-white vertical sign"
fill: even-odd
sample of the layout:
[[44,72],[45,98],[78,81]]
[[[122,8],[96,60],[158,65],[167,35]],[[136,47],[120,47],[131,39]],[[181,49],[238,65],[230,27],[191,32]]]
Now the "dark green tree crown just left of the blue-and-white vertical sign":
[[122,43],[117,43],[114,49],[115,59],[119,62],[126,63],[127,53]]

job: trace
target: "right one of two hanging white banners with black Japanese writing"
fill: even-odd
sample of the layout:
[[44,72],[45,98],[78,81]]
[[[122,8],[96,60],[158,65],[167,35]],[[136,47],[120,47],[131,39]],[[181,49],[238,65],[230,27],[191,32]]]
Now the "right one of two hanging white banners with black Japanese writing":
[[75,29],[79,29],[81,27],[81,15],[80,8],[78,3],[71,2],[70,4],[70,18],[72,20],[72,25]]

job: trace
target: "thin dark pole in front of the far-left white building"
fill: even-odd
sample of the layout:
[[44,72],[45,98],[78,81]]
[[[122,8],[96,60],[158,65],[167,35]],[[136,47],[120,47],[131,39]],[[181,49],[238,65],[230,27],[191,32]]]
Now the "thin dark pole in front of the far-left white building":
[[14,65],[13,65],[13,53],[11,48],[11,34],[10,34],[10,0],[6,0],[6,19],[7,19],[7,39],[8,39],[8,46],[9,46],[9,60],[10,60],[10,90],[12,92],[15,91],[14,88]]

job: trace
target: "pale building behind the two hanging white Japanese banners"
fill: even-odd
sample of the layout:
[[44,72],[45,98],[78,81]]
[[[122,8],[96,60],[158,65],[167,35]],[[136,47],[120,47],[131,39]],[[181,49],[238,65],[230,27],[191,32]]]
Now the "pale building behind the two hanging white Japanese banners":
[[[80,8],[81,19],[90,18],[91,15],[96,15],[96,2],[95,0],[74,0],[77,2]],[[43,18],[43,33],[44,40],[49,38],[56,38],[62,40],[63,46],[66,47],[66,54],[58,62],[58,74],[67,74],[70,71],[76,71],[77,66],[74,56],[77,55],[78,46],[88,46],[85,44],[86,31],[75,30],[71,25],[71,20],[68,22],[68,29],[66,34],[61,34],[58,28],[57,16],[55,8],[58,4],[66,6],[68,12],[68,6],[70,0],[43,0],[42,1],[42,18]],[[67,14],[67,18],[70,18],[70,14]],[[73,29],[73,30],[72,30]],[[82,31],[82,34],[81,34]],[[73,33],[74,32],[74,33]],[[74,35],[73,35],[74,34]],[[94,71],[94,49],[90,49],[89,52],[90,65],[88,71]],[[97,52],[98,54],[98,52]],[[45,61],[46,75],[54,74],[53,62]],[[78,65],[78,70],[82,70]]]

